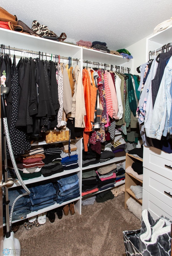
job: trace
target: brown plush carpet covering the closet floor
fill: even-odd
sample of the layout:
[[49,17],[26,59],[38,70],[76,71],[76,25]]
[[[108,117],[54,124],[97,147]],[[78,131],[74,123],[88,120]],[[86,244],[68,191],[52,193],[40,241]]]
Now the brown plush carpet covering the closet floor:
[[[21,224],[21,222],[19,222]],[[124,194],[104,203],[82,206],[82,214],[46,218],[40,227],[15,233],[21,256],[125,256],[124,230],[141,227],[141,221],[124,209]]]

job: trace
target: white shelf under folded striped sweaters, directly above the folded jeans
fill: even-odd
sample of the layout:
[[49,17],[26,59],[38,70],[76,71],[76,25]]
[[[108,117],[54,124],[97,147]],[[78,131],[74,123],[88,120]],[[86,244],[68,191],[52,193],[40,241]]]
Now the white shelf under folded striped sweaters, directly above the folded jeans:
[[[81,169],[78,167],[78,168],[73,169],[73,170],[66,170],[66,171],[64,170],[61,173],[56,173],[56,174],[53,174],[53,175],[48,176],[48,177],[44,177],[41,174],[40,177],[32,178],[32,179],[28,179],[28,180],[23,180],[23,182],[24,182],[24,184],[32,184],[32,183],[35,183],[35,182],[50,180],[50,179],[53,179],[53,178],[57,178],[57,177],[60,177],[60,176],[65,176],[65,175],[68,175],[68,174],[71,174],[71,173],[76,173],[76,172],[79,172],[79,171],[81,171]],[[12,186],[12,188],[18,187],[18,186],[21,186],[21,184],[18,180],[16,180],[14,185]]]

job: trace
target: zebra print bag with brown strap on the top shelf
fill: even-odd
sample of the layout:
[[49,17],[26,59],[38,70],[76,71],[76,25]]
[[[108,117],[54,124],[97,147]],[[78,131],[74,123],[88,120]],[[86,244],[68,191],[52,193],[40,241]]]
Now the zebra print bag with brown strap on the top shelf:
[[39,36],[44,37],[51,37],[52,38],[57,38],[59,41],[64,41],[66,39],[66,34],[61,33],[60,36],[57,36],[53,31],[49,30],[49,28],[45,25],[41,25],[38,21],[33,21],[32,22],[32,30],[36,32]]

